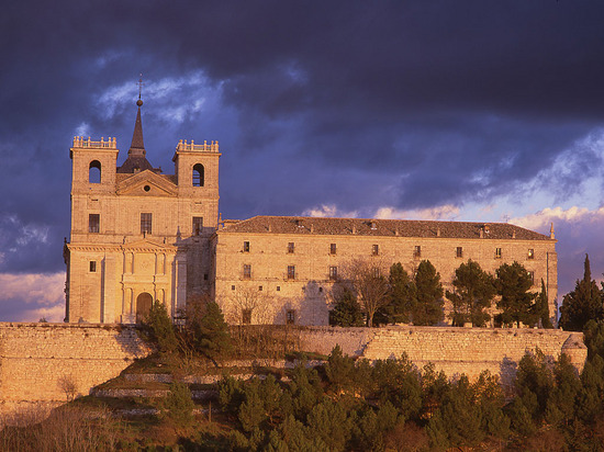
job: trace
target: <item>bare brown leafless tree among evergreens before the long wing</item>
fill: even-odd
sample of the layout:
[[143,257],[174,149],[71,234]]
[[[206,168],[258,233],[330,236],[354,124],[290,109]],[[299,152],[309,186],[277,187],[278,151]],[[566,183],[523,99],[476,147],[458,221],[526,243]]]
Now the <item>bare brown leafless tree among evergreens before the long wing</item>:
[[[389,284],[381,260],[355,258],[338,272],[339,283],[348,285],[367,313],[367,326],[373,326],[373,316],[389,302]],[[338,284],[336,284],[337,286]],[[334,287],[334,290],[338,290]]]

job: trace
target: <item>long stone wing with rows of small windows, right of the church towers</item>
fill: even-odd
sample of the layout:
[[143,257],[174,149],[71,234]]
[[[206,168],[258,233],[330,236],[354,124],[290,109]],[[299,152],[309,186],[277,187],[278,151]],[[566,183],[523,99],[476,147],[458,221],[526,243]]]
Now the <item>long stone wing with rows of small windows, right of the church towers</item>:
[[[413,274],[429,260],[445,289],[468,259],[494,274],[517,261],[548,291],[556,321],[556,239],[510,224],[257,216],[226,223],[212,237],[215,293],[230,323],[327,325],[329,289],[353,259],[388,274],[401,262]],[[445,310],[450,310],[446,301]],[[247,316],[247,318],[246,318]],[[447,320],[447,319],[446,319]]]

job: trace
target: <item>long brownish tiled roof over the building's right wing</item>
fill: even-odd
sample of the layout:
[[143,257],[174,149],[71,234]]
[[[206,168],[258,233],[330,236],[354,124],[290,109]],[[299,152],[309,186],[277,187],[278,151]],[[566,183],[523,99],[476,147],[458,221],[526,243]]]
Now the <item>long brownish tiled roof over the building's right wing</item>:
[[219,234],[316,234],[380,237],[443,237],[549,240],[549,236],[508,223],[435,222],[415,219],[321,218],[255,216],[242,222],[225,221]]

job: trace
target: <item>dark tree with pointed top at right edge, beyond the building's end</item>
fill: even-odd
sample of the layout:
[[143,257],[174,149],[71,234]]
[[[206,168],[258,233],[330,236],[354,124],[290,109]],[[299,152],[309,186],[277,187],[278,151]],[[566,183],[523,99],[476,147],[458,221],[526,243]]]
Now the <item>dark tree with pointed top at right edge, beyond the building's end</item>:
[[583,279],[577,280],[574,291],[564,295],[560,312],[560,327],[571,331],[582,331],[589,320],[603,318],[602,295],[597,284],[592,280],[588,255],[585,255]]

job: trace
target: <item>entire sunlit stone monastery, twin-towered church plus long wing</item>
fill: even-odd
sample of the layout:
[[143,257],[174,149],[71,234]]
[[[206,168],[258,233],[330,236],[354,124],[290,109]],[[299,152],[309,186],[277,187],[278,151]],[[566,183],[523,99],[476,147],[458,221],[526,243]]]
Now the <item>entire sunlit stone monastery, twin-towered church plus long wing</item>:
[[[180,140],[175,173],[146,159],[142,101],[127,158],[115,138],[75,137],[66,321],[135,323],[154,300],[172,316],[206,294],[231,324],[327,325],[329,290],[353,259],[388,274],[429,260],[445,289],[472,259],[491,272],[517,261],[558,296],[553,230],[504,223],[256,216],[219,217],[217,142]],[[445,301],[446,310],[450,308]]]

